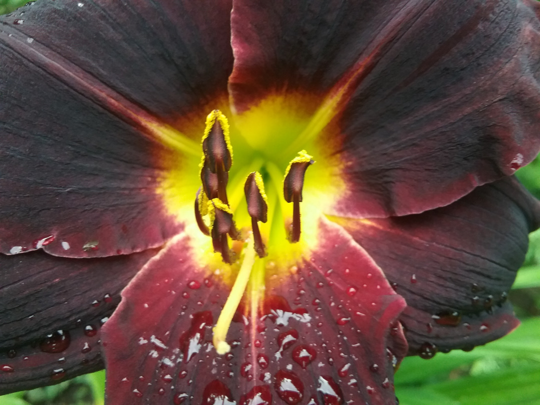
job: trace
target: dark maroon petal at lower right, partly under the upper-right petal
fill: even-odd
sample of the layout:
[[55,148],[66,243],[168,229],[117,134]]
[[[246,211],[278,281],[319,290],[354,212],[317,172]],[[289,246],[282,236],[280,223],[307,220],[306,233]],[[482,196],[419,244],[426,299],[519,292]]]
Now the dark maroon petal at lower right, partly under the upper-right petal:
[[538,201],[505,178],[437,210],[343,226],[407,300],[400,320],[416,354],[427,343],[483,345],[517,326],[505,301],[539,220]]

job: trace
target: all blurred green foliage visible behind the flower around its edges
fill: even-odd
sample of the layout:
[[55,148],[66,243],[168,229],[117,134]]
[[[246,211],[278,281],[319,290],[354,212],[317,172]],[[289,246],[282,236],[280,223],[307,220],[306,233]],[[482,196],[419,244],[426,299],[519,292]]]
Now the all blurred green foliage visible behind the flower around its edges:
[[[28,0],[0,0],[0,14]],[[519,180],[540,198],[540,159],[521,168]],[[540,405],[540,231],[530,248],[510,300],[522,325],[473,352],[454,350],[433,359],[407,357],[395,375],[401,405]],[[105,372],[56,386],[0,397],[2,405],[103,405]]]

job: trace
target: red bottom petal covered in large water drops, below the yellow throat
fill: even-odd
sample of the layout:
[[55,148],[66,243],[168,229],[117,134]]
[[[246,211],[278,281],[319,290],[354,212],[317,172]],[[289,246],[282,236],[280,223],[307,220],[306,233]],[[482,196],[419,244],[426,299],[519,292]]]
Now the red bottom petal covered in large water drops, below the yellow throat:
[[407,350],[396,322],[404,301],[339,226],[322,221],[319,230],[310,260],[267,274],[255,320],[241,305],[225,355],[212,326],[230,287],[194,261],[189,237],[174,238],[103,328],[107,401],[393,403],[393,364]]

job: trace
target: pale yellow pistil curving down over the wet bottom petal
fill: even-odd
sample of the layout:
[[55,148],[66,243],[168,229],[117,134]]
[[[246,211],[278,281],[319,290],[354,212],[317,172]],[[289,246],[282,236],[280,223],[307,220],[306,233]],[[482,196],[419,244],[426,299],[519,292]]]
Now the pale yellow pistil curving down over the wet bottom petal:
[[245,255],[236,281],[234,281],[233,288],[229,294],[227,301],[221,313],[219,314],[218,322],[213,328],[213,339],[215,350],[218,354],[225,354],[230,352],[231,346],[226,342],[227,332],[231,326],[234,313],[236,312],[240,300],[246,291],[247,282],[249,281],[249,276],[253,265],[255,264],[255,249],[253,245],[253,239],[249,238],[247,241],[247,247],[244,249]]

